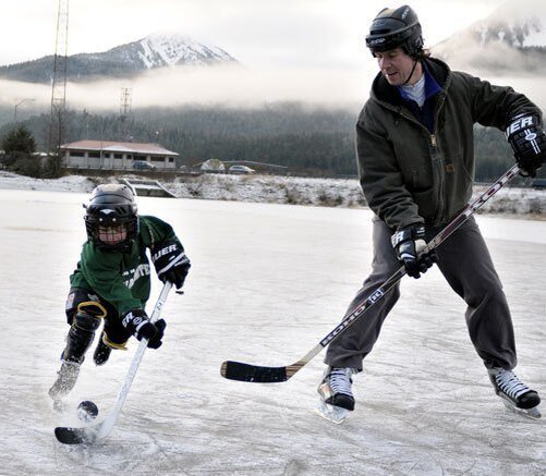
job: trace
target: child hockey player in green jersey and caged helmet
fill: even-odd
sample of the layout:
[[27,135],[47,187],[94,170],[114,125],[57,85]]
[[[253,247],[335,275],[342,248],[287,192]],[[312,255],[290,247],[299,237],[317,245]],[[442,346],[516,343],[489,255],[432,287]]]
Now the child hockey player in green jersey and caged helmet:
[[112,349],[124,350],[131,335],[147,339],[151,349],[161,345],[165,320],[153,324],[144,310],[150,292],[146,249],[150,249],[158,278],[178,289],[191,266],[168,223],[137,215],[133,193],[126,185],[98,185],[93,191],[85,228],[87,242],[70,277],[65,308],[70,330],[57,381],[49,390],[56,405],[75,386],[101,320],[105,325],[93,356],[96,365],[104,365]]

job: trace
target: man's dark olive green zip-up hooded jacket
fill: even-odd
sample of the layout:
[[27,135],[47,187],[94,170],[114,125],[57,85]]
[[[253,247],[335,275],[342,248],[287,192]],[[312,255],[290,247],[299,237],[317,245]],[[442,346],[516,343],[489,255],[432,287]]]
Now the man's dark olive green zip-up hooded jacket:
[[452,72],[424,60],[441,87],[434,99],[434,132],[378,74],[356,123],[359,174],[372,210],[393,230],[439,227],[463,209],[474,181],[474,123],[503,130],[520,112],[541,110],[510,87]]

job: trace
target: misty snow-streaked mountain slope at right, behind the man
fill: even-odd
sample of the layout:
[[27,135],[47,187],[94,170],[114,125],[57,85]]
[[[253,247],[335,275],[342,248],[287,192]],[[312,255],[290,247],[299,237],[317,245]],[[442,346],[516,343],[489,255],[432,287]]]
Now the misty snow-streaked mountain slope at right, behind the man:
[[546,10],[543,0],[509,1],[488,17],[432,48],[456,69],[496,74],[546,72]]

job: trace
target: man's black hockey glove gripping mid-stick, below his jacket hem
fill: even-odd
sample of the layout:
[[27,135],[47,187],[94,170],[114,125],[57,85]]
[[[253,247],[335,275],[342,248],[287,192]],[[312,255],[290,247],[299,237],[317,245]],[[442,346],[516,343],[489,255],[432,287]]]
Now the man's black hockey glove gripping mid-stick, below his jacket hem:
[[420,278],[438,259],[433,249],[428,253],[420,252],[426,246],[425,227],[411,224],[397,231],[390,239],[397,252],[398,260],[404,265],[405,272],[412,278]]

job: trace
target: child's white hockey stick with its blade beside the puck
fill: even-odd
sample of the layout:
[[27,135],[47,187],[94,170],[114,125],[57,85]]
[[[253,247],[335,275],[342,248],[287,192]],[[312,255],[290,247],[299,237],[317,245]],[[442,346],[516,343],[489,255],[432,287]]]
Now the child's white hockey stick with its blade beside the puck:
[[[161,313],[161,308],[167,300],[167,295],[171,290],[172,284],[170,282],[166,282],[163,284],[163,289],[157,298],[156,306],[154,307],[154,312],[151,313],[150,321],[155,322],[159,319],[159,314]],[[106,438],[110,435],[113,426],[116,425],[116,420],[121,412],[121,407],[125,402],[125,399],[129,393],[129,389],[133,383],[133,379],[136,375],[136,370],[141,364],[142,357],[144,356],[144,352],[146,351],[148,345],[148,340],[143,339],[138,344],[138,347],[133,356],[133,361],[131,362],[131,366],[129,367],[128,375],[125,377],[125,381],[121,387],[120,392],[118,393],[118,398],[113,404],[112,410],[108,414],[108,416],[98,425],[89,426],[89,427],[80,427],[80,428],[71,428],[71,427],[57,427],[54,429],[54,435],[57,439],[64,444],[80,444],[80,443],[94,443],[97,440]]]

